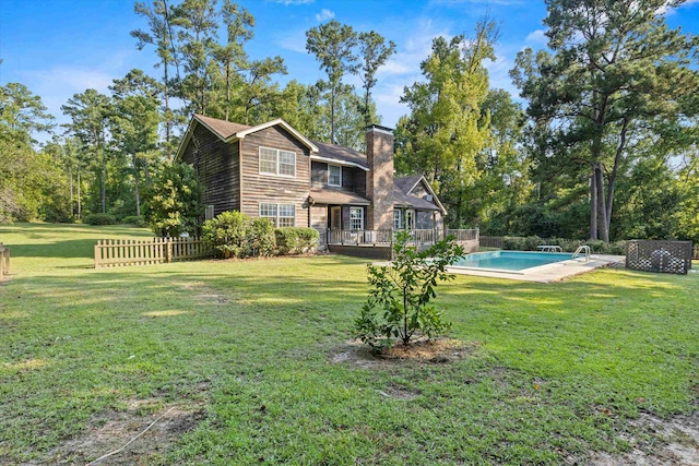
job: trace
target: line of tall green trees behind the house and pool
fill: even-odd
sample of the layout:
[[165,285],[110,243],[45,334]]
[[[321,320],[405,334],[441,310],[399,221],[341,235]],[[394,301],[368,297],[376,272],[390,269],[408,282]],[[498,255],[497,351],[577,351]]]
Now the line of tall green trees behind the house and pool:
[[[679,7],[684,1],[676,1]],[[495,21],[434,39],[423,79],[404,88],[395,129],[399,175],[424,175],[451,227],[571,239],[699,240],[699,39],[665,22],[665,0],[546,0],[547,47],[522,50],[519,99],[489,83]],[[254,17],[224,0],[137,2],[157,79],[131,70],[108,95],[76,94],[52,126],[40,98],[0,87],[0,222],[70,220],[83,212],[147,215],[191,113],[257,124],[284,118],[301,133],[363,148],[380,122],[372,89],[395,44],[330,21],[306,33],[327,79],[303,84],[282,57],[246,51]],[[362,88],[345,83],[357,75]],[[175,105],[177,103],[177,105]],[[38,131],[54,139],[39,147]]]

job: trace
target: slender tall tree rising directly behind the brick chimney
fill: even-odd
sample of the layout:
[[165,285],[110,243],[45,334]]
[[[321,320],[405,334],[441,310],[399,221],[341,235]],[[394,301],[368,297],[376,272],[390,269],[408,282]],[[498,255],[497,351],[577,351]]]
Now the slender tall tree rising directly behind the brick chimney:
[[364,87],[364,101],[362,105],[362,113],[364,115],[365,126],[369,126],[376,121],[371,121],[371,89],[377,83],[377,71],[386,64],[389,58],[395,53],[395,43],[389,40],[379,33],[370,31],[359,34],[359,53],[362,64],[359,67],[359,77]]

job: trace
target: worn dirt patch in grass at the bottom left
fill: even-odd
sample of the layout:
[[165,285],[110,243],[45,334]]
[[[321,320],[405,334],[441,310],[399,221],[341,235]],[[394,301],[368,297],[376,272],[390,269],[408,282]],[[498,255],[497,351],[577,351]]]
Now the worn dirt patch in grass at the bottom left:
[[58,446],[46,464],[87,464],[122,447],[157,420],[123,451],[97,463],[150,464],[166,453],[183,433],[194,429],[202,418],[203,413],[199,407],[163,405],[158,398],[129,401],[123,411],[97,416],[83,434]]

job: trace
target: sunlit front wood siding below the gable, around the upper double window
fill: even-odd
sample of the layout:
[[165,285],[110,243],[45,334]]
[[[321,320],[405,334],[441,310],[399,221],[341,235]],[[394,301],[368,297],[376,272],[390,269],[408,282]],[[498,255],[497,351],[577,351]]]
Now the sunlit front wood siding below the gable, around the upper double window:
[[[260,147],[291,151],[296,154],[296,177],[280,177],[260,174]],[[260,203],[294,204],[296,226],[308,226],[306,200],[310,190],[310,152],[286,130],[271,127],[249,134],[241,143],[240,212],[258,217]]]

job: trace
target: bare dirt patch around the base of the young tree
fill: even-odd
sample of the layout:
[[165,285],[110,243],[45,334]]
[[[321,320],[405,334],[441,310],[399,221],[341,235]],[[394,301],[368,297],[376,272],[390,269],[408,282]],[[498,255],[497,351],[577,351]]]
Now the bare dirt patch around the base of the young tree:
[[396,344],[377,355],[362,342],[353,340],[334,353],[330,360],[335,363],[351,363],[362,369],[382,368],[404,361],[446,363],[467,357],[477,347],[477,343],[452,338],[419,339],[410,345]]

